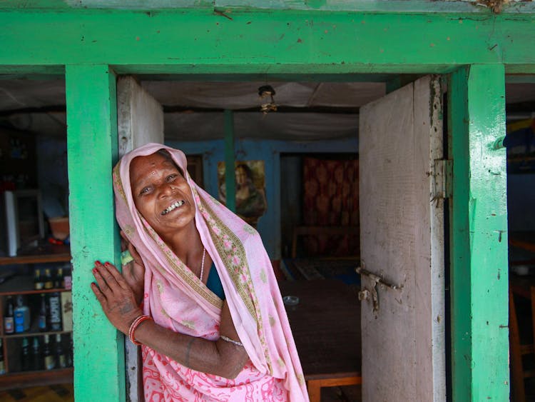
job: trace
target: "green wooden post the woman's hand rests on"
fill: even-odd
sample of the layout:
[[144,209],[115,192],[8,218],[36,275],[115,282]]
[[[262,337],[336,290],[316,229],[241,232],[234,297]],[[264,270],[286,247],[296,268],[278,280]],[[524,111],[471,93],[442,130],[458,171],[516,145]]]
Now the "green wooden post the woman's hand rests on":
[[124,341],[90,288],[95,260],[120,261],[111,169],[117,160],[116,77],[66,66],[76,401],[124,401]]

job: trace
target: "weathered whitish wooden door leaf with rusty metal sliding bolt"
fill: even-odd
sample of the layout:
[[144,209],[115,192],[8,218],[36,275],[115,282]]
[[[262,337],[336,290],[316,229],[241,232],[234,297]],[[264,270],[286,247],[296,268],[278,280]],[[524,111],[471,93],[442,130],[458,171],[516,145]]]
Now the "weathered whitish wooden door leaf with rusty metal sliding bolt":
[[362,107],[359,136],[362,268],[393,285],[362,275],[362,399],[444,401],[438,77]]

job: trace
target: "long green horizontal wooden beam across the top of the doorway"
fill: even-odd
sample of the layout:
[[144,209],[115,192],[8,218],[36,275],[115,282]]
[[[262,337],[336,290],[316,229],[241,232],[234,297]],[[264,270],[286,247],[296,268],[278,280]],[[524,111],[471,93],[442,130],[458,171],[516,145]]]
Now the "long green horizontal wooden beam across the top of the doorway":
[[118,73],[444,73],[535,60],[534,13],[0,9],[0,26],[0,65],[111,64]]

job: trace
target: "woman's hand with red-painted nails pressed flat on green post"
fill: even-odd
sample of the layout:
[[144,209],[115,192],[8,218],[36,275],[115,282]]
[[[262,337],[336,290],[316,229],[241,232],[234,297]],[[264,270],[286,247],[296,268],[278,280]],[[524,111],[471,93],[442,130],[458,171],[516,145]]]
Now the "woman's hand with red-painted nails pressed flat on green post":
[[101,303],[106,317],[114,327],[128,335],[131,323],[143,314],[136,303],[131,286],[111,263],[101,264],[96,261],[93,275],[98,286],[91,283],[91,289]]

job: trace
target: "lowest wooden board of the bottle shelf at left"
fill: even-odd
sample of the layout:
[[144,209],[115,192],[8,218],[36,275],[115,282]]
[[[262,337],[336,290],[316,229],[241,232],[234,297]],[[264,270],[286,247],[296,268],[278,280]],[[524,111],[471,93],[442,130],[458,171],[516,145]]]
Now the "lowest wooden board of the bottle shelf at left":
[[32,386],[47,386],[72,382],[72,367],[42,371],[17,371],[16,373],[0,375],[0,390],[24,388],[29,384]]

